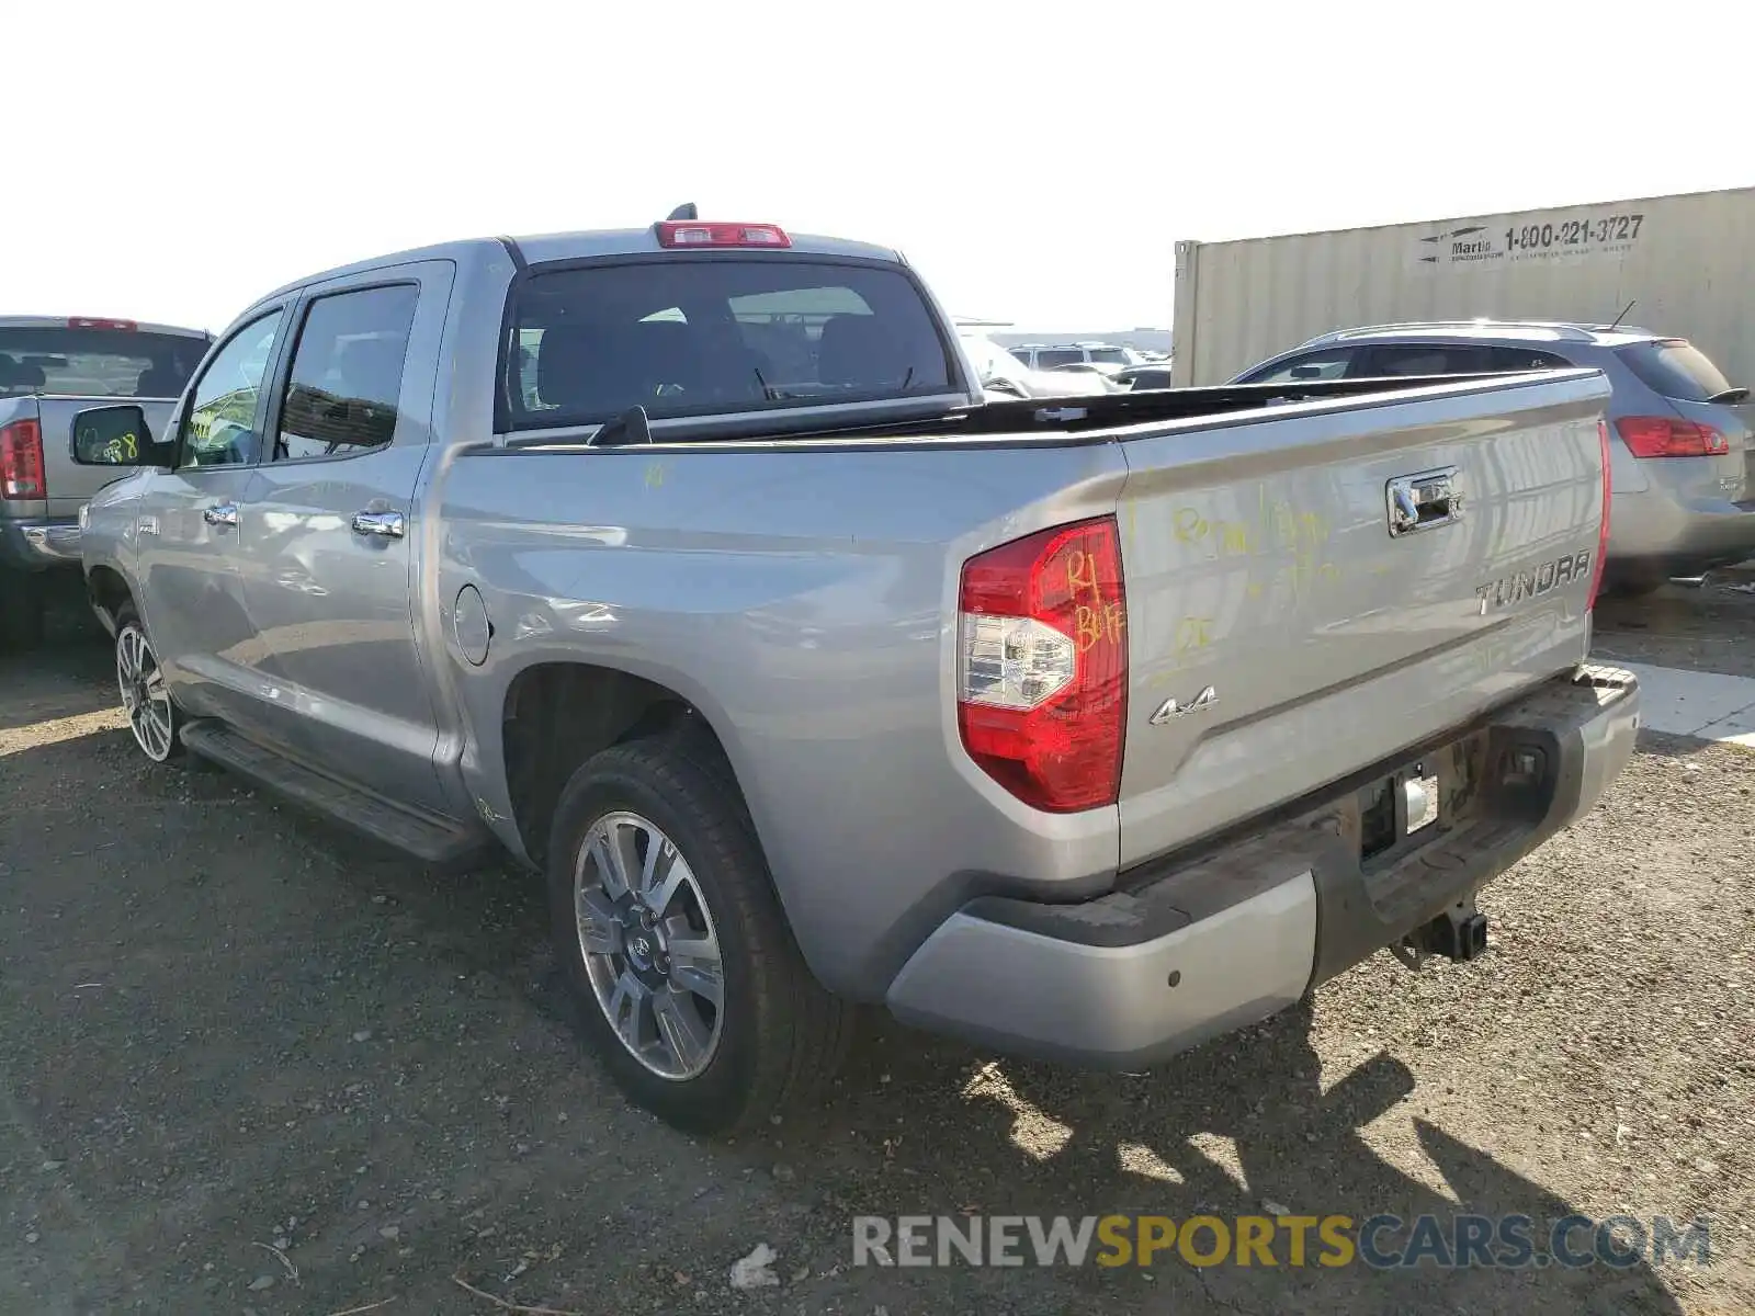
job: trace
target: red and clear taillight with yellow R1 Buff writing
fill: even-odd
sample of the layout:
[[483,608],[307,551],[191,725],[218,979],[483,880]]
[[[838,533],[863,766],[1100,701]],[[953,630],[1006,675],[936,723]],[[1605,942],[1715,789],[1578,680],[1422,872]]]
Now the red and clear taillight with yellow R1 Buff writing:
[[1114,804],[1127,730],[1127,597],[1113,516],[1055,526],[963,563],[956,725],[969,756],[1025,804]]

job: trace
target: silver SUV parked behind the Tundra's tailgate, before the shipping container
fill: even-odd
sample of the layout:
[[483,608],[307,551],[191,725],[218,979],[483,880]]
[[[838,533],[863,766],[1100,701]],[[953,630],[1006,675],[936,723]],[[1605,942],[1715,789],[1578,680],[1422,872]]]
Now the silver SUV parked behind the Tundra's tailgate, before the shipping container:
[[1755,556],[1755,442],[1746,388],[1687,339],[1602,325],[1457,321],[1337,330],[1232,379],[1458,375],[1590,367],[1609,402],[1606,588],[1646,593]]

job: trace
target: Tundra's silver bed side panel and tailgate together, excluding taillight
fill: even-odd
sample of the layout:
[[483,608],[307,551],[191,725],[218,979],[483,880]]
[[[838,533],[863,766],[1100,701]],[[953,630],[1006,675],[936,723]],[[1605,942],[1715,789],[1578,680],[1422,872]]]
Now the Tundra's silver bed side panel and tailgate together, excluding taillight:
[[[460,726],[458,753],[500,755],[507,693],[546,662],[681,693],[737,770],[813,970],[881,998],[978,895],[1090,898],[1585,658],[1602,377],[1367,383],[462,451],[428,493],[430,595],[481,588],[516,660],[458,686],[481,740]],[[1448,467],[1460,514],[1392,537],[1390,483]],[[960,744],[958,577],[1104,516],[1125,570],[1120,798],[1042,812]],[[509,790],[484,818],[518,816]]]

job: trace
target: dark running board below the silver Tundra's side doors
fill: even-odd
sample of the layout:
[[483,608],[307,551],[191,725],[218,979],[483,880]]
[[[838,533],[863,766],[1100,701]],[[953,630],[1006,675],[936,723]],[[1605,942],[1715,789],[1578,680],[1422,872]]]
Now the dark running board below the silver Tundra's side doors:
[[386,804],[376,795],[265,749],[225,723],[205,718],[191,721],[183,728],[183,744],[193,755],[425,863],[462,865],[481,858],[490,848],[479,832]]

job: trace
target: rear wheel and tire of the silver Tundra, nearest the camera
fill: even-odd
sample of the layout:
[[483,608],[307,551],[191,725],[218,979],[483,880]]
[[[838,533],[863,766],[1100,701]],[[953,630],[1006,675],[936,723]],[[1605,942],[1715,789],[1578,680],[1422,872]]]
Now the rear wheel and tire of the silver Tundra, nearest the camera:
[[637,1105],[723,1135],[814,1097],[849,1007],[799,953],[737,788],[684,726],[567,783],[548,884],[584,1033]]

